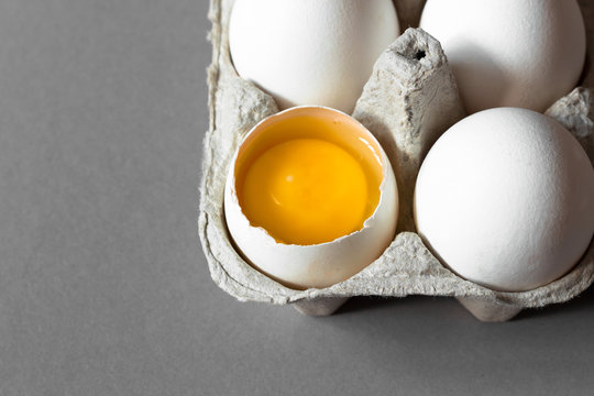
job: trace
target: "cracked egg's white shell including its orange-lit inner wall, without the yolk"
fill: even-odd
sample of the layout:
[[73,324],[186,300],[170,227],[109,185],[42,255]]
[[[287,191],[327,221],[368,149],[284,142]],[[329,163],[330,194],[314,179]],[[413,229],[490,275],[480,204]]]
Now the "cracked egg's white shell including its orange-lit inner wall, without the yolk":
[[[285,139],[284,132],[292,133],[292,139],[297,139],[306,129],[292,131],[292,125],[305,117],[316,117],[326,125],[338,128],[337,133],[343,134],[344,140],[351,142],[349,144],[370,151],[364,155],[371,154],[374,161],[380,163],[378,204],[374,210],[371,208],[371,217],[362,219],[364,223],[360,230],[326,243],[286,244],[271,237],[264,228],[252,226],[248,219],[238,197],[237,175],[241,173],[242,166],[238,164],[245,158],[250,146],[256,146],[258,142],[275,139],[277,142],[274,144],[279,144],[278,142]],[[363,270],[381,256],[393,241],[398,217],[396,178],[375,138],[356,120],[329,108],[296,107],[263,120],[240,144],[227,179],[224,215],[237,248],[255,268],[293,288],[327,287]]]

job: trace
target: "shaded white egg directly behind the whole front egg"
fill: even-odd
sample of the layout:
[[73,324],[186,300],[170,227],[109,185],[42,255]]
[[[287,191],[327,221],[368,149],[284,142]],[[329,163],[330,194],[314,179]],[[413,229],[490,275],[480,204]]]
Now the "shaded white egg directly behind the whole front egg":
[[542,112],[575,87],[584,65],[575,0],[428,0],[420,28],[441,42],[470,113]]

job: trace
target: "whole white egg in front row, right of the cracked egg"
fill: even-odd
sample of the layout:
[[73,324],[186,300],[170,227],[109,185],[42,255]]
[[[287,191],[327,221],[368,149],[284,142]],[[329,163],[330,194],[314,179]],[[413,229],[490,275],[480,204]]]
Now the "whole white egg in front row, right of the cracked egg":
[[516,108],[465,118],[430,150],[418,232],[462,277],[528,290],[571,270],[594,233],[594,169],[553,119]]

